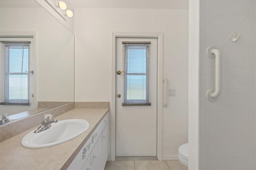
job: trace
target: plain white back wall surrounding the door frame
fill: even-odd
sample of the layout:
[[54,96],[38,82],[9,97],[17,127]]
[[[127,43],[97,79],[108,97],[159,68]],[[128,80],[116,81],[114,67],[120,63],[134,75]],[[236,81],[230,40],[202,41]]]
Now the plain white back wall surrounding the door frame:
[[176,96],[164,108],[163,158],[177,159],[188,142],[188,9],[75,8],[75,14],[76,102],[110,101],[112,32],[164,33],[164,77]]

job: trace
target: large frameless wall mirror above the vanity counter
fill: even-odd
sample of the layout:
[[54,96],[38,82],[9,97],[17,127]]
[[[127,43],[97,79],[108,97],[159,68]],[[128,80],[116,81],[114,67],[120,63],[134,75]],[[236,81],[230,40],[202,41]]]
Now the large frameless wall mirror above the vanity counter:
[[[13,121],[73,102],[74,34],[35,0],[0,0],[0,10],[0,115]],[[28,52],[14,42],[30,45],[29,69],[24,66]],[[13,62],[12,53],[22,65]],[[28,82],[27,104],[6,102],[15,98],[14,80]]]

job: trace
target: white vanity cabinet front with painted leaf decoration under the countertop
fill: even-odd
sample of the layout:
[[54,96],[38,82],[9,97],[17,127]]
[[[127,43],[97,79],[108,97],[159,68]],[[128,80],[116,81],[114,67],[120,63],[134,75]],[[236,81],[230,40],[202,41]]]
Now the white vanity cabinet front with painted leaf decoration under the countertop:
[[68,166],[68,170],[104,170],[108,159],[109,113]]

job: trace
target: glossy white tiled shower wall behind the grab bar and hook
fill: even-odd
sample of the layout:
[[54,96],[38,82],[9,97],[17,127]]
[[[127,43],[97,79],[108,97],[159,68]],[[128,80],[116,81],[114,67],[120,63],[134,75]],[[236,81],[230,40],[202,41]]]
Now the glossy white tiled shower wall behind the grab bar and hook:
[[[200,0],[200,169],[256,169],[255,11],[255,0]],[[233,31],[240,34],[236,42],[228,38]],[[210,45],[222,53],[222,93],[215,102],[205,97],[215,88]]]

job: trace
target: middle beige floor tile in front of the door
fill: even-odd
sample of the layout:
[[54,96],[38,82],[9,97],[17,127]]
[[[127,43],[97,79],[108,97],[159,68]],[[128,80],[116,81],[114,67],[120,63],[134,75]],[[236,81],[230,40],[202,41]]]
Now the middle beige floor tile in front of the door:
[[134,160],[135,170],[170,170],[166,161]]

